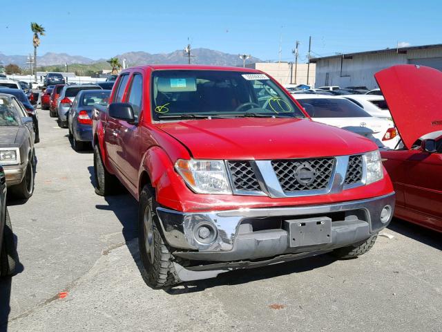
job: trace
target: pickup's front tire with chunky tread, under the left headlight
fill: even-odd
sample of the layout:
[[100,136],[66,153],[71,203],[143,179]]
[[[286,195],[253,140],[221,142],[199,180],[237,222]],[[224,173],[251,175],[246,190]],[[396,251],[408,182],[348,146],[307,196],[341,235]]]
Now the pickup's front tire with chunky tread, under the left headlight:
[[155,212],[156,205],[153,190],[145,185],[140,194],[138,210],[138,246],[143,266],[142,277],[148,286],[162,288],[179,284],[181,280],[175,272],[171,252],[161,236]]

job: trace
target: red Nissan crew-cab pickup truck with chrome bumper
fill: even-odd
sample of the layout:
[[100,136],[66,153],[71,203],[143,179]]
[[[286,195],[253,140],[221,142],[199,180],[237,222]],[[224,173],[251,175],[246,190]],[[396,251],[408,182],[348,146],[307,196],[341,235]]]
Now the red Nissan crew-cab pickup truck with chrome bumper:
[[119,74],[93,114],[96,192],[140,202],[154,287],[372,248],[394,212],[373,142],[311,121],[247,68],[153,65]]

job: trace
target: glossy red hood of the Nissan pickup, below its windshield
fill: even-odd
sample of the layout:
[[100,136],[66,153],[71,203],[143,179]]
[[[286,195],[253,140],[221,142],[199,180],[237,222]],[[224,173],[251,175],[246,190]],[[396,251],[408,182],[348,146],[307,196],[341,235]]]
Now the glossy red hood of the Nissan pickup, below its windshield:
[[376,149],[367,138],[311,120],[233,118],[166,122],[198,159],[285,159],[358,154]]

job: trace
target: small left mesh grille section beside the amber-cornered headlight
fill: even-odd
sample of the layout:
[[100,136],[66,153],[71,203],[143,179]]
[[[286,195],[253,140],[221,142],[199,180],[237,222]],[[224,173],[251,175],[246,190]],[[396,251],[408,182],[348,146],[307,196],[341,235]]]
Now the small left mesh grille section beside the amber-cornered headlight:
[[229,160],[227,164],[229,165],[233,187],[236,190],[261,191],[260,184],[256,180],[255,172],[253,172],[249,161]]

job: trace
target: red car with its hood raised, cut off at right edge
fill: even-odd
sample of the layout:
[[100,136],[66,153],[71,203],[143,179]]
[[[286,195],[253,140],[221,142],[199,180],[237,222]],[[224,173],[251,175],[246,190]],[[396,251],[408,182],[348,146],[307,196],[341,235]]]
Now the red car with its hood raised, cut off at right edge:
[[405,64],[375,77],[403,142],[403,149],[381,151],[395,216],[442,232],[442,73]]

